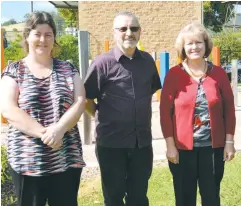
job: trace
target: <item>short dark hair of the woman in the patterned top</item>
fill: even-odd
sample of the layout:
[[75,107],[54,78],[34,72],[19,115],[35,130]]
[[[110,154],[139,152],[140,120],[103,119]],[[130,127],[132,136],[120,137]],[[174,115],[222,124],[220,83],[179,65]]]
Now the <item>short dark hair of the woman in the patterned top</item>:
[[23,44],[27,52],[29,52],[27,38],[31,30],[35,29],[39,24],[48,24],[53,30],[54,34],[54,45],[57,46],[56,42],[56,26],[53,20],[53,17],[45,11],[42,12],[33,12],[29,15],[28,19],[25,22],[25,27],[23,30]]

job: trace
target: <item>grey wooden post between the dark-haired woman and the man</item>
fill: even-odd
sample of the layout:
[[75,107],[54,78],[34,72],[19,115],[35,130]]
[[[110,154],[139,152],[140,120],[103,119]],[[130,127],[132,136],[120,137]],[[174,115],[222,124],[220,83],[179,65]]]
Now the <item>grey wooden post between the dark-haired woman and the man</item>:
[[[79,44],[79,65],[80,77],[84,80],[89,67],[89,33],[87,31],[78,31]],[[83,113],[84,124],[84,144],[91,144],[91,117],[86,112]]]

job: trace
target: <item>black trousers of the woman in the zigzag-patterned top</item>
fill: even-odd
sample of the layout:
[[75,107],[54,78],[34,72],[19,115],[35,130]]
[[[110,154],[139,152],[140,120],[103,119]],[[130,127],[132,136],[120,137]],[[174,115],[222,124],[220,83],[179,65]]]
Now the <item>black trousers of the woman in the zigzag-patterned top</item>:
[[20,175],[11,169],[19,206],[77,206],[81,169],[50,176]]

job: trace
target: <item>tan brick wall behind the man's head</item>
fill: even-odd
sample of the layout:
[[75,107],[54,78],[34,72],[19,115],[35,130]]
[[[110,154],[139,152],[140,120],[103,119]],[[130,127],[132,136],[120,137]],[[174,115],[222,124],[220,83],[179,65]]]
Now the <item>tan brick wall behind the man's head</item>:
[[139,18],[141,42],[145,51],[170,52],[170,66],[177,62],[174,42],[183,25],[201,22],[201,2],[113,2],[84,1],[79,3],[79,28],[90,33],[91,58],[104,52],[104,41],[114,46],[112,24],[120,11],[134,12]]

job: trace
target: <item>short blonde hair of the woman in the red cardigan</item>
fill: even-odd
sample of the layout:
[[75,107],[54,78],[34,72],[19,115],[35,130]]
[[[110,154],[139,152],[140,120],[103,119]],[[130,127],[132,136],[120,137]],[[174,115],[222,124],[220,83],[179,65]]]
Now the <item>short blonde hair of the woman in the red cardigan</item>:
[[179,32],[175,42],[175,48],[177,49],[178,56],[182,60],[186,59],[187,55],[184,50],[184,38],[190,34],[203,37],[206,49],[204,58],[207,58],[212,52],[213,42],[205,27],[197,21],[184,26]]

